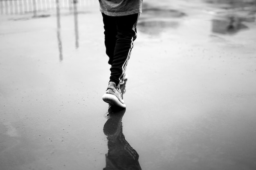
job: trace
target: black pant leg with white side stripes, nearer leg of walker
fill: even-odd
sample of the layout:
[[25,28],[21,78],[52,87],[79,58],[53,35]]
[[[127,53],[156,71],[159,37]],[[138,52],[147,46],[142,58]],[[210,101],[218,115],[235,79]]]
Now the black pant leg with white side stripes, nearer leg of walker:
[[110,82],[117,86],[123,81],[126,66],[130,58],[133,42],[137,37],[136,25],[139,14],[115,17],[117,23],[117,40],[110,68]]

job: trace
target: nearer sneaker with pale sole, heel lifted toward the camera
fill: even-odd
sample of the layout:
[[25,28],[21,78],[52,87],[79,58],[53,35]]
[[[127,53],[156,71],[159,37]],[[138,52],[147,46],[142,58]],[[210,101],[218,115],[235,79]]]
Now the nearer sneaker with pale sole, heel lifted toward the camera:
[[102,96],[104,102],[107,102],[111,106],[119,106],[125,108],[124,100],[122,99],[122,93],[119,87],[114,82],[108,83],[106,93]]

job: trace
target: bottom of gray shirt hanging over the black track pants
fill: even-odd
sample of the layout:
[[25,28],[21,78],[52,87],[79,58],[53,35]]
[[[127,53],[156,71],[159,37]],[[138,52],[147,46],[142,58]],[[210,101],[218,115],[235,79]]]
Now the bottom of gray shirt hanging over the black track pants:
[[100,11],[109,16],[141,13],[142,0],[99,0]]

